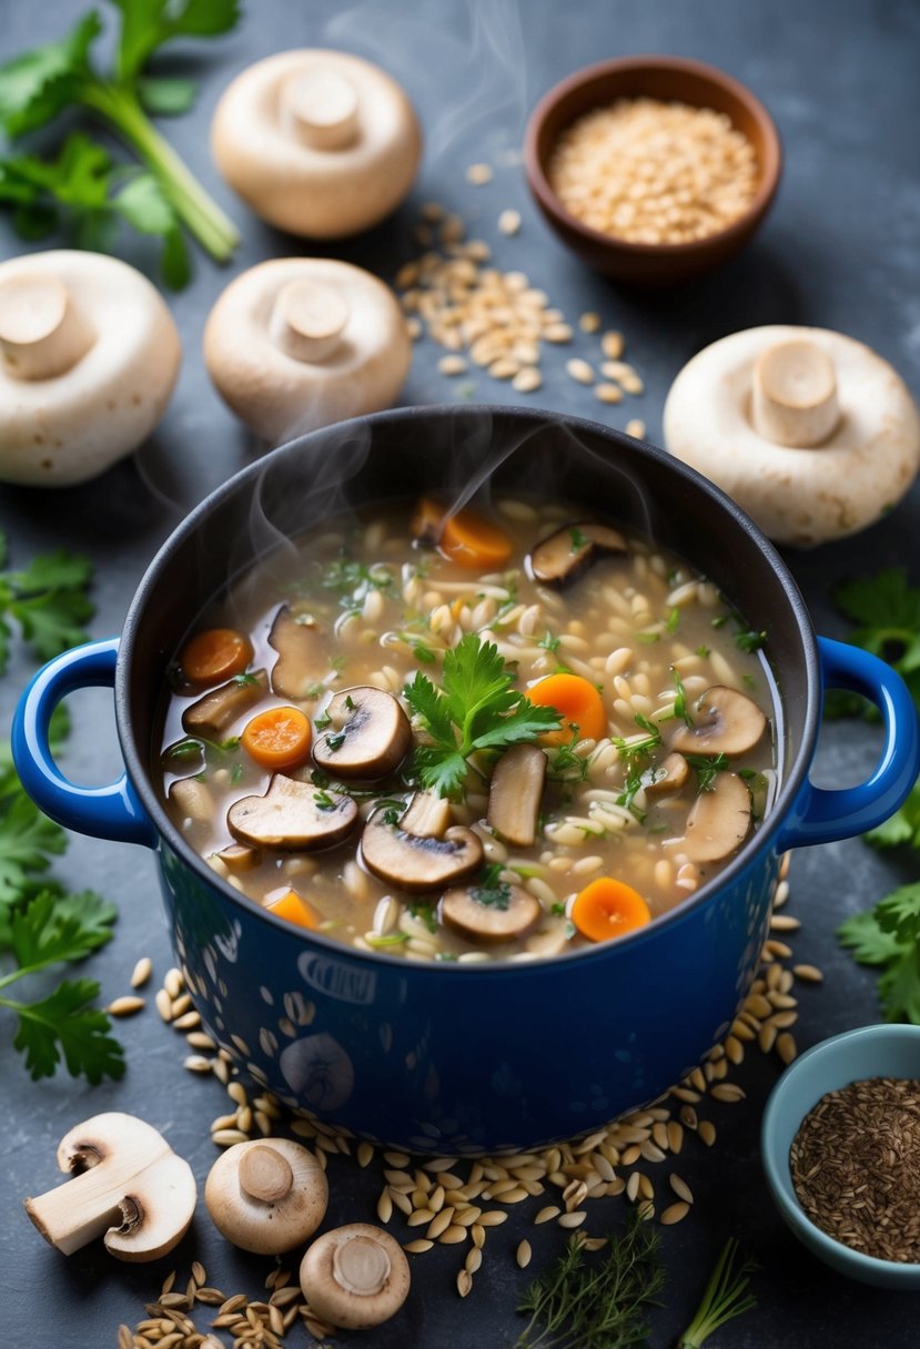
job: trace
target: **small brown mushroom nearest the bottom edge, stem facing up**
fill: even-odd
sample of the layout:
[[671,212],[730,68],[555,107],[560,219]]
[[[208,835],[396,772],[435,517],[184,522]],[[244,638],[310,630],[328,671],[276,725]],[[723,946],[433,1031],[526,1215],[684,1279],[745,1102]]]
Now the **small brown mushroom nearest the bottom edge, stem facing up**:
[[343,1330],[367,1330],[409,1296],[409,1261],[389,1232],[368,1222],[324,1232],[301,1261],[301,1290],[317,1317]]

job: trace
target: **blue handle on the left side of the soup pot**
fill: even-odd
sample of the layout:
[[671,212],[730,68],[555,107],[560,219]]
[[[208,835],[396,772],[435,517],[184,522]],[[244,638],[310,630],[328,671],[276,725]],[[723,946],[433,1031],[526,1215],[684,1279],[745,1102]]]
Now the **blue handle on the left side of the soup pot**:
[[123,773],[107,786],[78,786],[63,776],[49,745],[51,712],[77,688],[115,687],[119,638],[76,646],[43,665],[19,699],[12,759],[38,808],[80,834],[156,847],[158,834]]

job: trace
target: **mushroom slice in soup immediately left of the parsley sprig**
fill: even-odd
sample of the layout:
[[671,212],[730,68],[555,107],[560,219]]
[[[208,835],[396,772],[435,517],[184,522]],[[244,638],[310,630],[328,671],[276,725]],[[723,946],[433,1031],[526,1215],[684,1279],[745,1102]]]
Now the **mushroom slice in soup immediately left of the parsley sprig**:
[[411,726],[393,693],[357,685],[326,707],[332,726],[317,738],[313,758],[336,777],[375,780],[393,773],[409,753]]

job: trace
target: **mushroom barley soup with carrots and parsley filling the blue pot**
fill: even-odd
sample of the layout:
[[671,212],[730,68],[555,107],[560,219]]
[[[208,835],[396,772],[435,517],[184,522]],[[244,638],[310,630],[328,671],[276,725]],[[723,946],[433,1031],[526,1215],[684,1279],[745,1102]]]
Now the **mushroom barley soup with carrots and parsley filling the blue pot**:
[[332,518],[173,666],[169,812],[282,919],[409,959],[633,931],[738,851],[776,699],[715,585],[560,505]]

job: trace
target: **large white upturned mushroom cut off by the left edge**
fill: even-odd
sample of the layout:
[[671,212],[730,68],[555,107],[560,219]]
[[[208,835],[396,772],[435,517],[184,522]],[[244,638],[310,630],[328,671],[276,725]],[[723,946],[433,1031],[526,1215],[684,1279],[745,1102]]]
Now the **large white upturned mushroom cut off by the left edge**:
[[84,483],[150,436],[182,351],[146,277],[59,250],[0,264],[0,480]]

